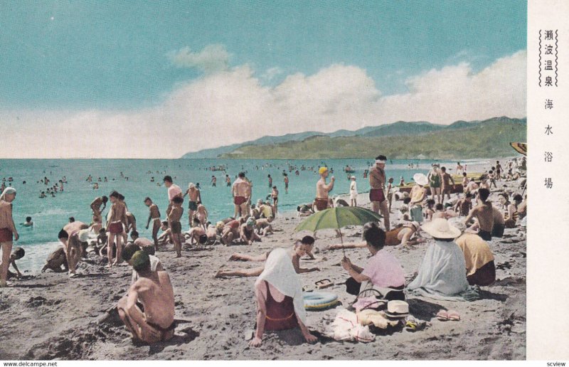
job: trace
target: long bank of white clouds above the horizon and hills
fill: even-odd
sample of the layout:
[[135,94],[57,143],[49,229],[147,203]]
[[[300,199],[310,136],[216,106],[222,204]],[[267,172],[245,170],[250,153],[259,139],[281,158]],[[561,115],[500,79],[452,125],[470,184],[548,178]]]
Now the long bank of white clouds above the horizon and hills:
[[467,63],[428,70],[408,78],[400,95],[381,95],[366,70],[351,65],[288,75],[275,87],[248,65],[215,70],[142,111],[0,111],[9,132],[0,135],[0,156],[176,158],[265,135],[526,116],[526,51],[476,74]]

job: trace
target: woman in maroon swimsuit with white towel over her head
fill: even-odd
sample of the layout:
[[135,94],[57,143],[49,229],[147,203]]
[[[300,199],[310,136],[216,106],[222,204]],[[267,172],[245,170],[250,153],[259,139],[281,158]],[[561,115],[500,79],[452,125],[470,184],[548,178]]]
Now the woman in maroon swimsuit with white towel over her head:
[[[262,334],[267,329],[266,325],[276,326],[277,324],[285,325],[282,328],[268,328],[272,330],[289,329],[289,326],[299,326],[302,336],[309,343],[317,341],[317,337],[310,334],[306,325],[306,312],[304,311],[304,299],[302,298],[302,284],[299,275],[294,271],[292,266],[292,258],[289,252],[284,248],[276,248],[272,250],[267,262],[265,262],[265,270],[259,275],[255,282],[255,296],[257,298],[257,329],[255,336],[250,342],[251,346],[260,346],[262,342]],[[292,302],[292,307],[290,303]],[[275,309],[279,308],[279,312],[283,312],[281,305],[288,304],[287,315],[280,315],[275,318]],[[267,307],[268,306],[268,307]],[[271,317],[271,316],[273,317]],[[296,320],[294,320],[296,319]]]

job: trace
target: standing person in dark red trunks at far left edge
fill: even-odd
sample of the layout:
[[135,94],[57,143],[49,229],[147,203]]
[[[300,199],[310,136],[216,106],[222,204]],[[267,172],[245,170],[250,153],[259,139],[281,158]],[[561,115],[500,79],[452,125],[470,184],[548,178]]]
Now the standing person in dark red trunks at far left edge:
[[18,231],[12,218],[12,201],[16,198],[16,188],[7,187],[0,196],[0,248],[2,263],[0,265],[0,287],[6,287],[12,240],[18,240]]

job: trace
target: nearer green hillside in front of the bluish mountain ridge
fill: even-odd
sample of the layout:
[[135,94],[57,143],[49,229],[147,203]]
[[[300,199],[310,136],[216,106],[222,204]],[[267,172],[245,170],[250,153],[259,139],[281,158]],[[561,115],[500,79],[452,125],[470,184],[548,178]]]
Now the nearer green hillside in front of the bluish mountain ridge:
[[[525,121],[524,121],[525,122]],[[408,136],[309,137],[302,142],[245,145],[220,156],[228,159],[339,159],[385,154],[390,159],[469,159],[512,156],[510,142],[526,142],[526,124],[504,117],[470,126]]]

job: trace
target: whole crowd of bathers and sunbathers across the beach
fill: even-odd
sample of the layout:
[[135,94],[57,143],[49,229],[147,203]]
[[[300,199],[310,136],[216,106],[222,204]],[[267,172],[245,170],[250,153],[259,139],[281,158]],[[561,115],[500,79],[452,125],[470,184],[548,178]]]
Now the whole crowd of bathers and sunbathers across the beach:
[[[371,211],[381,215],[382,223],[369,222],[363,225],[361,243],[330,245],[327,250],[366,248],[371,257],[364,267],[353,264],[349,257],[341,260],[341,267],[349,276],[346,292],[361,301],[363,291],[373,289],[376,299],[405,302],[407,297],[418,295],[436,299],[472,300],[479,297],[479,287],[492,284],[496,279],[494,256],[488,241],[501,238],[505,228],[525,226],[527,196],[525,193],[525,159],[512,159],[504,169],[499,161],[488,171],[468,176],[466,166],[459,162],[456,174],[452,176],[444,166],[432,164],[427,175],[417,173],[413,184],[405,185],[403,178],[395,186],[393,177],[385,174],[388,159],[379,155],[374,164],[364,172],[369,181]],[[268,167],[268,165],[267,165]],[[257,166],[256,169],[264,169]],[[225,166],[212,166],[211,171],[223,171]],[[346,166],[350,174],[349,203],[341,198],[332,198],[335,178],[325,164],[314,167],[290,166],[289,172],[313,171],[319,174],[316,196],[312,203],[297,207],[299,216],[312,216],[320,211],[340,206],[358,206],[358,188],[353,169]],[[149,174],[151,172],[149,171]],[[123,179],[128,178],[121,172]],[[462,179],[460,177],[462,176]],[[287,173],[283,171],[285,191],[288,189]],[[274,231],[273,221],[278,213],[279,191],[267,176],[270,196],[252,202],[252,182],[246,173],[240,172],[231,182],[233,216],[218,220],[215,224],[208,217],[208,210],[202,202],[200,188],[189,183],[183,191],[174,184],[174,179],[166,175],[162,180],[167,188],[168,207],[161,211],[149,197],[144,204],[149,209],[146,228],[151,225],[151,239],[137,232],[137,220],[128,210],[125,196],[111,191],[109,196],[97,196],[90,203],[91,223],[83,223],[70,218],[58,233],[60,247],[53,251],[42,272],[68,272],[69,277],[77,276],[78,264],[89,256],[107,257],[107,267],[128,264],[133,269],[132,284],[127,295],[119,300],[117,309],[127,329],[134,339],[149,344],[171,339],[174,335],[174,289],[168,273],[164,270],[157,253],[173,245],[176,257],[182,250],[196,246],[233,245],[242,243],[252,245],[262,241]],[[47,178],[43,181],[48,185]],[[87,181],[92,181],[92,176]],[[105,177],[105,182],[107,178]],[[60,191],[63,191],[63,177]],[[97,181],[100,181],[97,180]],[[500,186],[503,181],[519,182],[515,190]],[[211,184],[216,185],[216,176]],[[427,186],[429,190],[427,190]],[[492,190],[494,186],[494,191]],[[492,195],[496,194],[496,195]],[[188,230],[182,230],[184,200],[188,197]],[[16,189],[5,187],[0,196],[0,246],[2,262],[0,266],[0,286],[5,287],[9,276],[21,277],[16,260],[24,255],[23,248],[12,252],[13,241],[18,240],[18,231],[12,218],[12,201]],[[494,200],[491,200],[491,199]],[[393,201],[402,201],[396,213],[392,211]],[[110,204],[109,204],[110,203]],[[103,211],[110,205],[107,217]],[[398,218],[395,228],[392,220]],[[32,218],[26,218],[22,225],[33,225]],[[160,231],[162,232],[160,235]],[[425,234],[427,236],[425,236]],[[96,238],[95,238],[96,236]],[[130,236],[130,240],[129,240]],[[432,238],[432,240],[430,240]],[[420,265],[417,275],[405,284],[403,268],[399,260],[390,252],[383,250],[388,246],[412,246],[430,240],[429,248]],[[300,259],[312,253],[315,238],[311,235],[297,240],[289,248],[275,248],[259,255],[235,253],[229,260],[265,262],[262,267],[253,269],[220,270],[216,277],[257,277],[255,282],[255,301],[257,304],[256,330],[250,344],[262,343],[265,331],[299,327],[308,342],[316,341],[306,325],[302,299],[302,280],[299,274],[317,272],[319,267],[303,268]],[[12,265],[16,274],[9,272]],[[456,313],[452,313],[457,317]],[[450,317],[450,312],[437,314],[437,317]]]

